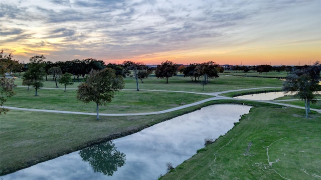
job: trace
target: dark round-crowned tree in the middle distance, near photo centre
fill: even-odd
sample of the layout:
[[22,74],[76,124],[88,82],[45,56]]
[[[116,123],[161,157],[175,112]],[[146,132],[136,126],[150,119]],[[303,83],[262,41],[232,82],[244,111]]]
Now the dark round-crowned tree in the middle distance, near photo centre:
[[177,67],[178,64],[166,60],[165,62],[162,62],[161,65],[157,65],[155,70],[155,76],[158,78],[166,77],[166,83],[169,83],[169,77],[177,75]]

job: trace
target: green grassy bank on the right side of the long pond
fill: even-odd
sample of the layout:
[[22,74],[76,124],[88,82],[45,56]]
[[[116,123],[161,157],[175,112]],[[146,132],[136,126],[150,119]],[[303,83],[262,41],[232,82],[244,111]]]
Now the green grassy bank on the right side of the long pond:
[[227,134],[161,179],[319,179],[321,116],[253,107]]

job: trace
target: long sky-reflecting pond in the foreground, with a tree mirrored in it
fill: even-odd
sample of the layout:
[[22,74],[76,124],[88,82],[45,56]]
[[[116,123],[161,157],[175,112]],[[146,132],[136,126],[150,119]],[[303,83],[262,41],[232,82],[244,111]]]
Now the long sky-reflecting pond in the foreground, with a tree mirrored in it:
[[216,104],[1,176],[7,179],[157,179],[238,122],[251,106]]

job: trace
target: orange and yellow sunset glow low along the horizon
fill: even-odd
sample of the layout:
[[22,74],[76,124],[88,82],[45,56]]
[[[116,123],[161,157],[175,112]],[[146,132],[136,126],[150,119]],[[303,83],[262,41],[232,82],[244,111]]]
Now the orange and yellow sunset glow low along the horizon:
[[[40,42],[38,42],[40,43]],[[48,60],[58,61],[62,57],[59,50],[50,45],[43,45],[37,48],[31,48],[28,45],[8,44],[5,53],[11,52],[16,60],[28,61],[31,56],[45,55],[49,56]],[[234,48],[234,49],[233,49]],[[202,63],[214,61],[221,65],[304,65],[311,64],[321,60],[321,45],[319,42],[310,43],[293,43],[279,46],[262,46],[262,47],[230,47],[226,49],[190,49],[190,50],[173,50],[168,52],[157,52],[151,54],[141,54],[130,58],[107,59],[104,57],[92,57],[97,60],[103,60],[106,64],[121,64],[125,60],[134,62],[143,62],[145,64],[161,64],[163,61],[171,60],[178,64]],[[18,58],[17,57],[24,57]],[[68,57],[69,58],[69,57]],[[73,55],[70,59],[85,59],[91,57],[83,57],[81,55]]]

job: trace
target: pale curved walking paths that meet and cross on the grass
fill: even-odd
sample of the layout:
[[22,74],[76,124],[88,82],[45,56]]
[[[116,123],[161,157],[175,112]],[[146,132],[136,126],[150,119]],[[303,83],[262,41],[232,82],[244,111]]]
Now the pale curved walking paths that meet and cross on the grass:
[[[19,87],[28,87],[28,86],[19,86]],[[64,89],[64,88],[47,88],[42,87],[43,89]],[[255,88],[247,88],[247,89],[236,89],[236,90],[225,90],[220,92],[189,92],[189,91],[176,91],[176,90],[148,90],[148,89],[139,89],[141,91],[164,91],[164,92],[183,92],[183,93],[196,93],[196,94],[205,94],[205,95],[213,95],[214,97],[210,97],[207,99],[203,99],[197,102],[193,102],[190,104],[181,105],[178,107],[165,109],[161,111],[154,111],[154,112],[141,112],[141,113],[99,113],[99,115],[102,116],[128,116],[128,115],[150,115],[150,114],[160,114],[160,113],[166,113],[171,112],[179,109],[183,109],[186,107],[198,105],[207,101],[211,100],[222,100],[222,99],[233,99],[233,100],[247,100],[247,101],[256,101],[256,102],[265,102],[265,103],[271,103],[271,104],[277,104],[277,105],[283,105],[286,107],[294,107],[299,109],[305,109],[305,107],[298,106],[298,105],[291,105],[291,104],[285,104],[280,103],[279,101],[291,101],[291,100],[297,100],[297,99],[286,99],[286,100],[250,100],[250,99],[239,99],[239,98],[233,98],[233,97],[227,97],[220,95],[222,93],[227,92],[235,92],[235,91],[242,91],[242,90],[255,90],[255,89],[262,89],[262,88],[279,88],[279,87],[255,87]],[[77,88],[67,88],[67,89],[77,89]],[[136,90],[136,89],[123,89],[123,90]],[[96,115],[96,112],[77,112],[77,111],[65,111],[65,110],[48,110],[48,109],[34,109],[34,108],[21,108],[21,107],[12,107],[12,106],[4,106],[8,109],[15,109],[15,110],[28,110],[28,111],[39,111],[39,112],[53,112],[53,113],[69,113],[69,114],[83,114],[83,115]],[[317,111],[321,113],[321,109],[315,109],[310,108],[310,110]]]

